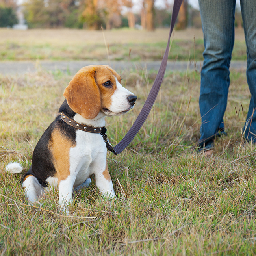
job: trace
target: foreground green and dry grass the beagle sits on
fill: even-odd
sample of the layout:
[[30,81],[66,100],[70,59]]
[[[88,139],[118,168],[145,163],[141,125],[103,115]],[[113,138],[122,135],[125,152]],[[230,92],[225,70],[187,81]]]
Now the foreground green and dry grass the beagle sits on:
[[[156,74],[126,70],[121,76],[138,99],[127,115],[107,118],[113,145],[134,122]],[[28,170],[71,76],[0,76],[0,253],[255,255],[256,148],[241,139],[250,92],[245,72],[230,77],[227,135],[216,140],[211,158],[195,150],[200,74],[169,72],[139,134],[118,156],[108,153],[117,200],[102,198],[93,180],[74,195],[65,217],[57,191],[28,204],[21,175],[4,168],[19,161]]]

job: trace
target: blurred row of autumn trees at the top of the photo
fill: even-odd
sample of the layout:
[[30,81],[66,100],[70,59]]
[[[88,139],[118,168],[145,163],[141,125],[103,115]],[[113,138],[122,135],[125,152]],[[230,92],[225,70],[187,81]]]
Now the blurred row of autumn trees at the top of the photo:
[[[173,0],[0,0],[0,27],[79,28],[101,26],[152,31],[170,24]],[[184,0],[176,29],[201,28],[198,0]],[[236,27],[242,27],[239,2]]]

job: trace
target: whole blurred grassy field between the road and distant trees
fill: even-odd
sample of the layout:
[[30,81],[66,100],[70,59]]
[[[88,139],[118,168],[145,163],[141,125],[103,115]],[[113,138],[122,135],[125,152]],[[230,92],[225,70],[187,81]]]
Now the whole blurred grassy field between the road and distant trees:
[[[0,60],[161,60],[168,29],[143,30],[10,30],[0,29]],[[236,30],[232,58],[246,60],[243,30]],[[104,41],[105,37],[105,41]],[[202,30],[175,31],[169,59],[202,60]],[[195,39],[194,39],[195,38]],[[108,56],[106,53],[108,51]]]

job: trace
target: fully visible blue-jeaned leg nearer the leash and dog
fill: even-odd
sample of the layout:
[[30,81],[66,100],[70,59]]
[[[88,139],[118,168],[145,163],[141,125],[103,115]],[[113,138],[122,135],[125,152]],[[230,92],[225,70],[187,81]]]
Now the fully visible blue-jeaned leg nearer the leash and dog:
[[205,50],[199,98],[202,124],[198,146],[206,149],[213,147],[213,139],[219,132],[224,132],[223,115],[234,46],[235,6],[236,0],[199,0]]

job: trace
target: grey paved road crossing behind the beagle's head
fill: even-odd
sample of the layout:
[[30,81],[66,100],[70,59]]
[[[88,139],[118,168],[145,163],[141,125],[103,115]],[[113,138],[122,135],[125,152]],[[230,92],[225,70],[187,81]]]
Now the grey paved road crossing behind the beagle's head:
[[[43,70],[69,72],[74,75],[81,67],[95,64],[108,64],[117,72],[124,69],[141,69],[147,67],[147,70],[158,70],[161,61],[148,62],[125,62],[125,61],[0,61],[0,74],[25,74],[26,72],[35,72],[41,68]],[[202,61],[198,62],[196,69],[201,70]],[[230,68],[246,69],[246,61],[232,61]],[[167,70],[186,71],[193,70],[194,63],[187,61],[168,61]]]

